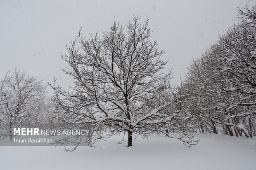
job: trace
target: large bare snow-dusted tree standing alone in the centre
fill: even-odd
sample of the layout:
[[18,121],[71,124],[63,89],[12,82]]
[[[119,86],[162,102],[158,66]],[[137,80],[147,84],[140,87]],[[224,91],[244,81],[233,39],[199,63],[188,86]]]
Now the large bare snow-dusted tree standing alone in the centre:
[[[126,132],[128,147],[135,134],[171,137],[170,126],[180,133],[183,125],[179,122],[189,118],[186,113],[180,115],[181,94],[171,92],[171,72],[161,72],[167,63],[161,60],[164,51],[151,40],[148,20],[141,25],[139,19],[134,16],[126,30],[114,21],[102,39],[97,34],[85,39],[79,32],[79,45],[73,41],[62,56],[69,65],[63,71],[73,77],[74,86],[65,91],[51,85],[55,90],[52,100],[64,121],[92,123],[99,139]],[[160,95],[163,91],[170,92],[165,102]],[[102,134],[106,129],[108,134]],[[193,144],[183,133],[175,138]]]

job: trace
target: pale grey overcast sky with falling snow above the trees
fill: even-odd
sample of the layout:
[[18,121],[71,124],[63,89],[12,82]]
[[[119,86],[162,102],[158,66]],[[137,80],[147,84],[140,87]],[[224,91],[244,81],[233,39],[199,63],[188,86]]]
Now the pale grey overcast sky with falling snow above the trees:
[[[173,83],[180,82],[193,58],[200,57],[209,44],[218,40],[237,22],[237,7],[246,0],[2,0],[0,1],[0,79],[15,67],[45,83],[54,77],[67,86],[61,59],[65,44],[83,36],[108,30],[116,21],[126,24],[133,15],[148,17],[165,51],[165,68],[173,70]],[[252,1],[251,3],[255,3]],[[143,21],[143,20],[141,20]]]

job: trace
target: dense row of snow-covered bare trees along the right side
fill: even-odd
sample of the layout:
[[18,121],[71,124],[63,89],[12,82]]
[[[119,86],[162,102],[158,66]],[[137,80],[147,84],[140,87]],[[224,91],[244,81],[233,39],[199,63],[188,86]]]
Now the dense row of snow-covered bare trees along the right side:
[[256,6],[239,9],[237,18],[188,67],[184,86],[201,133],[256,135]]

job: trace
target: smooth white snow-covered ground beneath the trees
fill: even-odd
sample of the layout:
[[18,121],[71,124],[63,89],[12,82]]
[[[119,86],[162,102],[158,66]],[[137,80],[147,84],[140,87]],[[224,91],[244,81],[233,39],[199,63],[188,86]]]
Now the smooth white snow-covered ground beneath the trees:
[[164,135],[137,137],[132,147],[111,137],[92,147],[0,147],[0,169],[19,170],[256,170],[256,138],[195,134],[188,149]]

